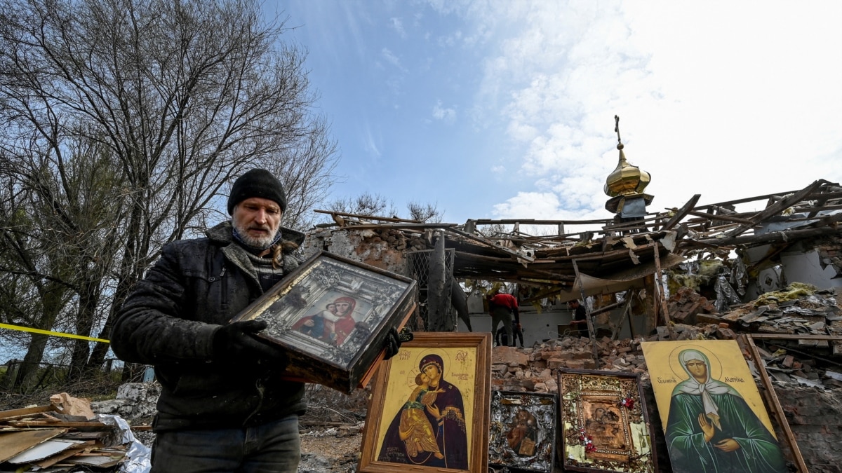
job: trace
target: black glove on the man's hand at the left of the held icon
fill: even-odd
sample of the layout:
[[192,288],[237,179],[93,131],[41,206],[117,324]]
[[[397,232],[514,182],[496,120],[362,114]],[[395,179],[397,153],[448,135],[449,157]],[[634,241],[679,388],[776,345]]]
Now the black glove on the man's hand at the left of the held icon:
[[290,364],[285,351],[254,337],[267,325],[266,321],[240,321],[222,326],[213,337],[213,358],[237,364],[265,364],[283,371]]

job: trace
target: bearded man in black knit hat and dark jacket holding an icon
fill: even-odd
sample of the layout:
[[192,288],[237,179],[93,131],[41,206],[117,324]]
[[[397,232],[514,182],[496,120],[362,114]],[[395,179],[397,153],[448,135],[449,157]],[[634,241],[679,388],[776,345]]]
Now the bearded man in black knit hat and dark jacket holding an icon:
[[[152,472],[296,471],[304,385],[285,350],[255,334],[260,320],[229,322],[298,266],[282,238],[286,196],[264,169],[232,186],[231,221],[205,238],[171,242],[117,314],[111,347],[152,364],[161,382]],[[386,356],[400,342],[392,330]]]

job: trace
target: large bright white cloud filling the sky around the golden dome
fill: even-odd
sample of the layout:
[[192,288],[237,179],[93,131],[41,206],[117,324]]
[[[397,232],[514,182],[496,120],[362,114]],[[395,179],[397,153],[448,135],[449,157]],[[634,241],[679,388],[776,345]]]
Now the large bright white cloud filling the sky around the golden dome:
[[842,178],[842,3],[510,4],[471,13],[500,38],[473,115],[503,120],[520,151],[501,166],[548,190],[498,215],[605,217],[614,114],[626,157],[653,175],[650,211]]

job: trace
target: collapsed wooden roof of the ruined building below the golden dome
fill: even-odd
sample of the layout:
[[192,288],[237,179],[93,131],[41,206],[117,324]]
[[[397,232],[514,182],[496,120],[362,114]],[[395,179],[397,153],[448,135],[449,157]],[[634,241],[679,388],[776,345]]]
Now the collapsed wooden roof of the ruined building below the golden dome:
[[[804,189],[746,199],[696,205],[695,194],[680,208],[647,214],[635,221],[615,218],[590,221],[532,219],[421,223],[394,217],[354,215],[327,210],[345,229],[400,231],[432,248],[434,231],[445,236],[455,251],[453,275],[457,279],[504,280],[570,290],[577,273],[591,278],[629,280],[652,274],[697,252],[725,256],[737,247],[776,242],[797,242],[814,237],[842,235],[842,187],[817,180]],[[765,202],[759,211],[738,212],[736,205]],[[483,235],[482,226],[514,226],[513,231]],[[533,236],[524,226],[548,226],[555,234]],[[574,226],[598,230],[570,232]],[[658,248],[656,260],[654,248]],[[838,263],[838,262],[834,262]]]

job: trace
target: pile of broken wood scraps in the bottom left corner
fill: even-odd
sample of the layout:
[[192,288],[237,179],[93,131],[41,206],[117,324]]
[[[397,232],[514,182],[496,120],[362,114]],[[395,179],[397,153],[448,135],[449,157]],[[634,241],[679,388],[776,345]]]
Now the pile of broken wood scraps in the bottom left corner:
[[0,471],[88,471],[120,465],[118,428],[56,406],[0,411]]

